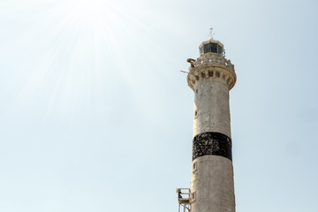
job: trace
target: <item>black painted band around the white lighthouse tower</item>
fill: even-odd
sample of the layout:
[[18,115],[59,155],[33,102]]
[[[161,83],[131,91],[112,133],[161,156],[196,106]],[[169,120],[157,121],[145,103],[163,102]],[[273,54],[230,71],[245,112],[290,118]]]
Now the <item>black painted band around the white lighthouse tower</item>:
[[223,133],[201,133],[193,138],[193,160],[203,155],[231,158],[231,138]]

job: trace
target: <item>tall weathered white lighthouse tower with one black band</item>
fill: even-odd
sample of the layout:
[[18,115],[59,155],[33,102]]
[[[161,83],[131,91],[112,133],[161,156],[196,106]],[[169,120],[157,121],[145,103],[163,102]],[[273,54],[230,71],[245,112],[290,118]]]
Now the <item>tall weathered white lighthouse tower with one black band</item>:
[[191,212],[234,212],[229,91],[234,65],[223,44],[210,37],[191,63],[188,86],[194,91]]

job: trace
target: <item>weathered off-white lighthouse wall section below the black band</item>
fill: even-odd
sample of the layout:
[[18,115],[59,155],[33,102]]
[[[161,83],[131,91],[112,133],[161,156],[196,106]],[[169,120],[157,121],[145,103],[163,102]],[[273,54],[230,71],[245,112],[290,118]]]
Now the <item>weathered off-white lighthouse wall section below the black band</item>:
[[193,161],[192,212],[235,212],[233,167],[223,156],[205,155]]

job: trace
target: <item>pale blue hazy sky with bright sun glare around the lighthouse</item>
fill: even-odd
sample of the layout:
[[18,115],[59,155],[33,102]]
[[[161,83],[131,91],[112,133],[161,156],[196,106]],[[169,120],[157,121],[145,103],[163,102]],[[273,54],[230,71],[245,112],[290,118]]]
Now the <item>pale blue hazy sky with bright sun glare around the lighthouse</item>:
[[178,211],[186,59],[223,42],[237,83],[237,211],[315,212],[318,3],[1,0],[0,211]]

